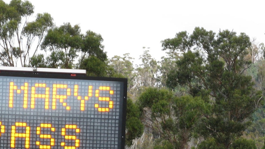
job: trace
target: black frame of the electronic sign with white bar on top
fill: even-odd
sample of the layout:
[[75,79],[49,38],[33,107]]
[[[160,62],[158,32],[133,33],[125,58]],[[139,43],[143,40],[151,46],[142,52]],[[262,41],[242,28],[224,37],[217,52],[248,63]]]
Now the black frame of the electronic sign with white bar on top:
[[[24,71],[23,69],[16,70],[15,67],[13,69],[10,69],[8,67],[7,70],[4,70],[2,67],[0,68],[0,78],[2,76],[8,76],[8,77],[30,77],[30,78],[52,78],[52,79],[74,79],[74,80],[93,80],[93,81],[117,81],[121,82],[123,84],[123,99],[122,100],[122,109],[121,112],[121,122],[119,122],[119,134],[118,136],[118,149],[124,149],[125,148],[125,121],[126,121],[126,104],[127,104],[127,78],[112,78],[112,77],[93,77],[93,76],[85,76],[83,71],[76,71],[76,73],[73,71],[57,71],[60,69],[49,69],[49,71],[45,72],[45,69],[40,69],[42,71],[28,71],[29,68]],[[61,69],[62,70],[62,69]],[[71,70],[71,69],[69,69]],[[0,99],[3,100],[3,99]],[[4,124],[2,124],[4,125]],[[9,133],[9,132],[8,132]],[[0,136],[1,138],[1,136]],[[78,147],[76,148],[78,149]]]

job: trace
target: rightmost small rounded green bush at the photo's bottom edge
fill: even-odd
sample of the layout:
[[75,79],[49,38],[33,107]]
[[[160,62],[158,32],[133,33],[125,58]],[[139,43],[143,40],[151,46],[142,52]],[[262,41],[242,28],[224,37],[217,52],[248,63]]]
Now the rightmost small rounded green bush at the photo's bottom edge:
[[231,145],[231,149],[242,149],[242,148],[257,149],[254,140],[247,140],[244,138],[236,139]]

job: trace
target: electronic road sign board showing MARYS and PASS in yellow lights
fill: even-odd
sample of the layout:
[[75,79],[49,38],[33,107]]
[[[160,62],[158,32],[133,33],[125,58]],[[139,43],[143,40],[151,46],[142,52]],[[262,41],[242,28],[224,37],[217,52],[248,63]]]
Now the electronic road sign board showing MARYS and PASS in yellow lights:
[[127,79],[0,72],[1,149],[125,147]]

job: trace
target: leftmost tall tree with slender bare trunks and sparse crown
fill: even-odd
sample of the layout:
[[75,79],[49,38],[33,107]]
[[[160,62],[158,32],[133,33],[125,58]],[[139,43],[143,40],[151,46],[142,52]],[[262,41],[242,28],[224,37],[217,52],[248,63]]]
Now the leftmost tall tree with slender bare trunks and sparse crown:
[[0,8],[0,62],[4,66],[28,66],[53,26],[53,18],[43,13],[29,22],[34,13],[29,1],[12,0],[6,4],[0,0]]

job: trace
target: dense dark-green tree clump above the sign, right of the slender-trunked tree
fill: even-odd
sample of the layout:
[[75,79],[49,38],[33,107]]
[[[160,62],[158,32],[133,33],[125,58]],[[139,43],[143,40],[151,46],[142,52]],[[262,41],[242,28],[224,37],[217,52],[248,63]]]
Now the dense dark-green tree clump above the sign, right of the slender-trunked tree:
[[[72,26],[70,23],[65,23],[60,27],[49,29],[41,47],[43,50],[51,52],[47,57],[50,67],[72,69],[74,67],[73,62],[78,54],[82,53],[79,57],[79,68],[88,69],[87,67],[95,65],[95,68],[89,68],[93,70],[88,69],[88,74],[91,76],[106,76],[104,69],[98,69],[98,67],[106,65],[107,55],[103,51],[102,41],[100,34],[89,30],[84,35],[81,33],[79,25]],[[97,61],[97,59],[100,61]],[[99,64],[87,64],[89,61],[99,62]]]

